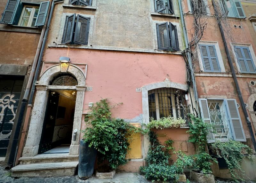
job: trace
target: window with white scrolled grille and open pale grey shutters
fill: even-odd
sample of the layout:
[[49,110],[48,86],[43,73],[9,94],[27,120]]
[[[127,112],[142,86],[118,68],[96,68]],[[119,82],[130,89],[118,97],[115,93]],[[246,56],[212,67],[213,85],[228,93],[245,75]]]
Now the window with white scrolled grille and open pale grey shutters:
[[201,117],[208,129],[208,143],[219,141],[246,142],[236,99],[199,99]]

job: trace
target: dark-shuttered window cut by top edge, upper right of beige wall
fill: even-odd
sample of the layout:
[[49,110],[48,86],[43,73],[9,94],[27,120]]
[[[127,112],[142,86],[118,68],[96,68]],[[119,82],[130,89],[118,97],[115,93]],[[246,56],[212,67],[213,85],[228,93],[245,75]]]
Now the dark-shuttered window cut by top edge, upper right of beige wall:
[[174,14],[172,0],[154,0],[155,12]]

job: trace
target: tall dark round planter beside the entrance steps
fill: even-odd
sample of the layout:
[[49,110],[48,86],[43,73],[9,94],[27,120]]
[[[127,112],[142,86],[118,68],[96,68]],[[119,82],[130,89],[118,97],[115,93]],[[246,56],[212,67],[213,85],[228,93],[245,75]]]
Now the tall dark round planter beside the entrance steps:
[[84,140],[80,140],[78,177],[81,179],[91,177],[94,170],[97,150],[93,147],[89,147],[89,144],[90,142],[84,143]]

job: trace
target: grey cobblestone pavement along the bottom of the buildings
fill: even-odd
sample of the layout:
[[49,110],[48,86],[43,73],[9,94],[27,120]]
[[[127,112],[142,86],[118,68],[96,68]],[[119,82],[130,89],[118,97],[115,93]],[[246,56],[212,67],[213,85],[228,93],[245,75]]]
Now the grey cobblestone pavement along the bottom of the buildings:
[[[4,167],[0,167],[0,183],[150,183],[143,176],[137,173],[116,173],[113,179],[97,179],[92,177],[87,180],[81,180],[77,176],[67,177],[11,177],[11,171],[5,171]],[[216,183],[235,183],[231,180],[215,179]],[[190,180],[190,183],[196,183]],[[245,181],[241,183],[255,183],[255,181]]]

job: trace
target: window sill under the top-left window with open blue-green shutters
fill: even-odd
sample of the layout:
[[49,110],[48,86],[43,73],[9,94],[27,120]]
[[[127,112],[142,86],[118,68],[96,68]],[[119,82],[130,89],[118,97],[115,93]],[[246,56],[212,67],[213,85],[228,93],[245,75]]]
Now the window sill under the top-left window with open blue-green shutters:
[[6,25],[0,24],[0,30],[2,31],[11,31],[11,32],[26,32],[26,33],[35,33],[41,34],[41,29],[37,27],[23,27],[17,25]]

